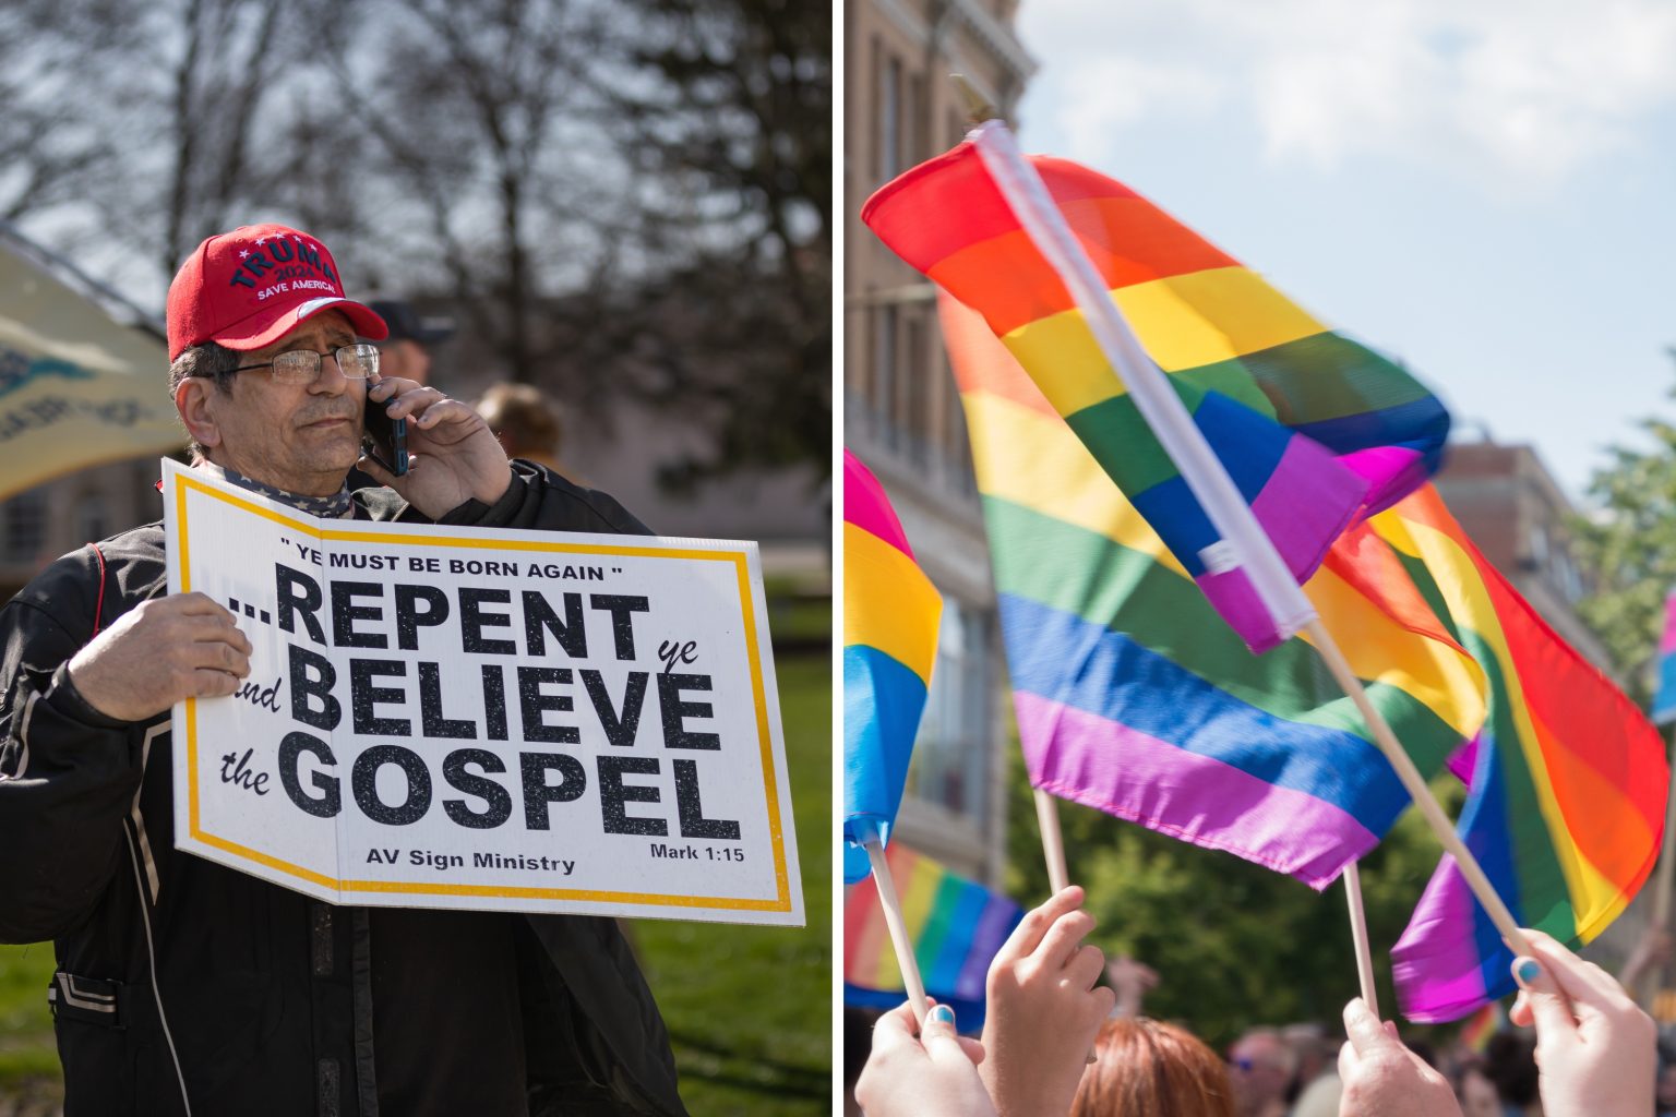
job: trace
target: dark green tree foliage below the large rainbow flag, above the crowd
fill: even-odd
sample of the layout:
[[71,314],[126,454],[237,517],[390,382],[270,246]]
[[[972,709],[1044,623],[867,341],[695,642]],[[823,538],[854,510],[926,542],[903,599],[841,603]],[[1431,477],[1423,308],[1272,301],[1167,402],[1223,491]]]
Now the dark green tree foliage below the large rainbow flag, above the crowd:
[[[1048,896],[1048,869],[1017,749],[1012,757],[1007,891],[1029,906]],[[1436,790],[1446,807],[1461,799],[1458,784],[1440,780]],[[1218,1050],[1260,1023],[1339,1027],[1344,1003],[1361,991],[1341,884],[1317,894],[1240,857],[1071,802],[1059,802],[1059,821],[1071,881],[1088,889],[1098,919],[1093,941],[1160,975],[1146,1015],[1182,1022]],[[1386,1018],[1396,1017],[1391,946],[1440,856],[1425,821],[1410,811],[1361,864]]]

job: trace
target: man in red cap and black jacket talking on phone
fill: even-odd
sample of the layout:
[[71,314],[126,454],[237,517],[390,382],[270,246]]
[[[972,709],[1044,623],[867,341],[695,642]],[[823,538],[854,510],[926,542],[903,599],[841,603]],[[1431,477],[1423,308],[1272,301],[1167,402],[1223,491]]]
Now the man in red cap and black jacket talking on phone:
[[[385,325],[305,233],[206,239],[168,327],[194,469],[223,482],[315,517],[647,531],[515,469],[469,405],[379,380],[357,337]],[[370,407],[407,420],[406,476],[362,459]],[[389,487],[352,496],[357,464]],[[612,919],[339,908],[176,851],[171,710],[273,695],[245,687],[253,630],[169,595],[166,566],[149,524],[59,559],[0,611],[0,938],[55,939],[65,1112],[682,1112]]]

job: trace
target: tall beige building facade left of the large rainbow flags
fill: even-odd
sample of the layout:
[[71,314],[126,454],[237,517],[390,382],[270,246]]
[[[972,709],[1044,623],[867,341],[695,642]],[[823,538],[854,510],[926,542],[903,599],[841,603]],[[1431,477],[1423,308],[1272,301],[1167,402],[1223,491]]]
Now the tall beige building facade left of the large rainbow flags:
[[845,445],[878,476],[944,595],[937,667],[898,816],[974,879],[1004,864],[1007,688],[965,420],[932,285],[860,221],[875,189],[969,127],[950,74],[1011,116],[1034,70],[1014,0],[858,0],[845,12]]

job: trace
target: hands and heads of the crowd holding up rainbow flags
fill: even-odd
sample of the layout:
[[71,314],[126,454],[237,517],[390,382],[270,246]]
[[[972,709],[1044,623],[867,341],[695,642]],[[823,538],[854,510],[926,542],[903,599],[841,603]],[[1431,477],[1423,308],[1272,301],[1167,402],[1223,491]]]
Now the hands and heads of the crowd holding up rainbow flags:
[[[1404,1042],[1358,998],[1344,1040],[1319,1025],[1250,1028],[1223,1058],[1141,1015],[1156,981],[1106,965],[1071,886],[1024,921],[989,970],[982,1037],[947,1005],[878,1018],[855,1082],[868,1117],[1642,1117],[1676,1112],[1676,1062],[1617,980],[1527,931],[1517,1030],[1482,1052]],[[1110,985],[1098,983],[1101,975]]]

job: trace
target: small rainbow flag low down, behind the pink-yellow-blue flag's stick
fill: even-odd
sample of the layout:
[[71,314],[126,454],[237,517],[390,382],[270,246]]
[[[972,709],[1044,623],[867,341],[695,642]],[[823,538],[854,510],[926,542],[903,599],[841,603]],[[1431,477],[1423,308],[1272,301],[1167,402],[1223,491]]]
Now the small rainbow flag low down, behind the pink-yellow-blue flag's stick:
[[[1024,909],[982,884],[955,876],[902,842],[885,852],[902,894],[902,918],[925,991],[955,1011],[962,1030],[984,1023],[984,978],[996,951]],[[907,993],[878,889],[860,884],[843,906],[843,1000],[865,1008],[895,1008]]]

